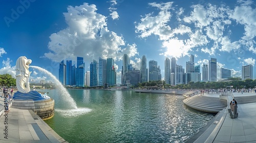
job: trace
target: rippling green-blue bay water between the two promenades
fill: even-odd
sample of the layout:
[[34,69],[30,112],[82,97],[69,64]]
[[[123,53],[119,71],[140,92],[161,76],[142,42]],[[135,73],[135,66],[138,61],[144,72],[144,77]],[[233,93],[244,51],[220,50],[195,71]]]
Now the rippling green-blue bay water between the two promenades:
[[186,107],[182,96],[132,90],[71,89],[78,109],[63,110],[57,90],[41,91],[55,100],[46,123],[69,142],[185,142],[215,115]]

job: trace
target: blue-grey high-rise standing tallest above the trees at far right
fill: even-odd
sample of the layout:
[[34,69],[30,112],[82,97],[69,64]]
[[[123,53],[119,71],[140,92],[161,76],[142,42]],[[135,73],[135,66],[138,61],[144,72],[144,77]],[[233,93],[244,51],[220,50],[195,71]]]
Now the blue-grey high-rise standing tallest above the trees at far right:
[[209,81],[217,81],[217,59],[209,60]]

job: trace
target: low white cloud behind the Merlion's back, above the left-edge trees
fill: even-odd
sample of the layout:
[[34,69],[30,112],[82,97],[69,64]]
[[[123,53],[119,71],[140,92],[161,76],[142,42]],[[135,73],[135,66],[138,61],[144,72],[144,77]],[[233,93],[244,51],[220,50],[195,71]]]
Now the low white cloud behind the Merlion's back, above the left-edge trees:
[[16,78],[15,77],[15,74],[16,74],[16,70],[15,70],[15,66],[11,66],[11,63],[12,60],[10,60],[10,58],[7,58],[7,60],[3,60],[3,65],[4,67],[2,67],[0,69],[0,75],[3,75],[3,74],[10,74],[13,78]]

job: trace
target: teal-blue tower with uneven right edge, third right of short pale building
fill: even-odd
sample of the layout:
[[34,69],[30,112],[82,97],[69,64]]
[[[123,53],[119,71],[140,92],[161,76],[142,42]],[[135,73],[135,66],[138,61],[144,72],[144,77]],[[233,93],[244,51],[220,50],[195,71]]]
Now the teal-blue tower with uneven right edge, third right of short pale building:
[[106,83],[109,86],[116,84],[116,71],[114,64],[115,63],[113,58],[106,59]]

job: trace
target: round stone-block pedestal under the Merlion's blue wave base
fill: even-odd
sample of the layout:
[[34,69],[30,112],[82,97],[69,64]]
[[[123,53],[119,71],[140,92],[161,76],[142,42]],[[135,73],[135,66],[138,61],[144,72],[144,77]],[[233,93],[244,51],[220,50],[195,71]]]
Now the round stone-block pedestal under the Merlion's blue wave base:
[[47,120],[54,115],[54,100],[13,100],[12,108],[32,109],[42,120]]

